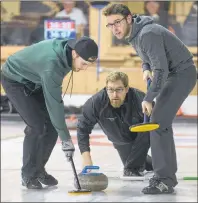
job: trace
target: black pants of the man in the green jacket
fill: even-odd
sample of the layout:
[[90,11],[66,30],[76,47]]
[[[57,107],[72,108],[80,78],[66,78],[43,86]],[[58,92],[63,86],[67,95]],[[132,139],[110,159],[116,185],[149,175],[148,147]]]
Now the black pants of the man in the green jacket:
[[9,100],[27,124],[24,130],[22,176],[35,177],[45,170],[58,134],[51,123],[42,89],[27,96],[24,84],[10,80],[3,74],[1,79]]

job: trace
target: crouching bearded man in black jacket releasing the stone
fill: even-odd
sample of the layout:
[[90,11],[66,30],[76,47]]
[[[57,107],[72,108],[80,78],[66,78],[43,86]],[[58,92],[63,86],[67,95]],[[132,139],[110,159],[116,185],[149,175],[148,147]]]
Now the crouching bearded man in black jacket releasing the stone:
[[129,126],[143,122],[141,102],[145,94],[128,85],[128,76],[112,72],[106,79],[106,88],[93,95],[83,106],[77,125],[77,137],[83,165],[92,165],[89,134],[96,123],[100,125],[124,165],[124,176],[142,176],[144,169],[152,170],[147,156],[149,133],[134,133]]

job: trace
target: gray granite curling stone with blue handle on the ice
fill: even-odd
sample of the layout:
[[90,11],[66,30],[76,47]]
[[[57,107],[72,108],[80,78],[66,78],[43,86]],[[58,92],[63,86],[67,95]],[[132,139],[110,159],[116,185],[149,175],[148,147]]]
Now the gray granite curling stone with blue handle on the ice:
[[[103,173],[87,172],[88,170],[99,169],[99,166],[85,166],[81,173],[78,174],[78,179],[82,189],[91,191],[102,191],[108,186],[108,178]],[[74,186],[77,188],[76,179]]]

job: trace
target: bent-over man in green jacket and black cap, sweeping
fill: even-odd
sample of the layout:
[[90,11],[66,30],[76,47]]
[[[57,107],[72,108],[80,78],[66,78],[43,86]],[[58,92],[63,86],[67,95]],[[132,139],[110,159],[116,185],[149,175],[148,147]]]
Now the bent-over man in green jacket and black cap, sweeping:
[[22,185],[28,189],[58,184],[45,171],[58,136],[67,160],[73,157],[75,148],[65,123],[62,82],[70,71],[73,77],[73,71],[86,70],[97,55],[98,46],[88,37],[78,41],[53,39],[26,47],[2,65],[2,86],[27,125],[21,175]]

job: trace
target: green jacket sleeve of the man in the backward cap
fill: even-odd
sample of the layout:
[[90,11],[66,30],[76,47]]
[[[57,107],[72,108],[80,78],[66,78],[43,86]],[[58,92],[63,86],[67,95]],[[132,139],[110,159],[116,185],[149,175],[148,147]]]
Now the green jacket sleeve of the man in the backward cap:
[[71,137],[65,123],[62,79],[56,72],[45,71],[42,76],[42,88],[51,122],[60,139],[67,141]]

